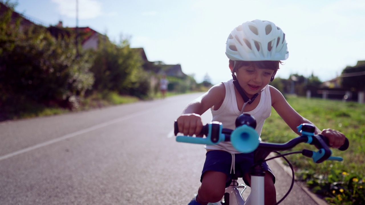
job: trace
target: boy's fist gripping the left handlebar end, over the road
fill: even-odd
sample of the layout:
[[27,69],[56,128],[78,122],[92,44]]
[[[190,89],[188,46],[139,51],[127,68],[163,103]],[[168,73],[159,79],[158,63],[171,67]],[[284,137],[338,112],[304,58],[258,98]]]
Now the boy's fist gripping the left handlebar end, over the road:
[[201,129],[203,128],[200,115],[195,113],[183,114],[178,117],[176,121],[179,132],[183,133],[184,135],[198,136],[201,132]]

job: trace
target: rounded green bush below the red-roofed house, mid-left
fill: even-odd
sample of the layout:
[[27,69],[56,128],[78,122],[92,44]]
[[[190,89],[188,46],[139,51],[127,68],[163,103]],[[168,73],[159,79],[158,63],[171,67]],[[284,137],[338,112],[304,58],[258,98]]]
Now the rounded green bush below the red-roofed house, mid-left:
[[93,88],[146,97],[150,90],[149,76],[137,50],[130,48],[127,39],[118,45],[103,39],[95,53],[91,71],[95,76]]

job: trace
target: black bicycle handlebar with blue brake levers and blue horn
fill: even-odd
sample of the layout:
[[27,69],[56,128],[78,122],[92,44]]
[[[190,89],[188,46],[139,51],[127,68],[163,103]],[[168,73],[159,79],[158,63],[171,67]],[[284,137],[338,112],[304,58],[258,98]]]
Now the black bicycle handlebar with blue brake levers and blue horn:
[[[240,115],[237,119],[244,117],[251,117],[250,115],[244,114]],[[252,121],[252,119],[250,119]],[[254,118],[253,118],[254,120]],[[237,121],[247,121],[247,120],[236,120]],[[265,150],[265,151],[284,151],[295,147],[299,143],[308,143],[315,145],[319,151],[303,150],[302,154],[307,157],[311,157],[315,163],[321,163],[324,160],[337,160],[342,161],[341,157],[331,156],[332,151],[328,148],[328,139],[323,135],[314,135],[315,127],[312,124],[304,123],[299,125],[298,132],[302,135],[298,136],[287,143],[277,144],[277,143],[265,143],[260,142],[259,136],[253,127],[245,123],[237,126],[235,130],[223,129],[222,123],[212,122],[203,126],[201,135],[205,135],[206,138],[192,137],[192,136],[176,136],[177,142],[187,142],[195,144],[207,144],[214,145],[224,141],[231,141],[233,147],[239,152],[250,153],[255,150]],[[256,124],[256,123],[254,123]],[[175,121],[174,133],[177,135],[178,126]],[[349,140],[345,138],[345,143],[339,148],[339,150],[344,151],[349,147]]]

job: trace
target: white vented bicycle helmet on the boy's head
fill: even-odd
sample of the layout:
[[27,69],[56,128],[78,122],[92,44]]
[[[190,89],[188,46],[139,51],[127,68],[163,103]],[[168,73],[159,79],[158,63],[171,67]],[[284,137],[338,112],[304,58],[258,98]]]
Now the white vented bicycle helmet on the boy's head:
[[283,30],[274,23],[253,20],[231,31],[226,55],[234,61],[281,61],[289,56]]

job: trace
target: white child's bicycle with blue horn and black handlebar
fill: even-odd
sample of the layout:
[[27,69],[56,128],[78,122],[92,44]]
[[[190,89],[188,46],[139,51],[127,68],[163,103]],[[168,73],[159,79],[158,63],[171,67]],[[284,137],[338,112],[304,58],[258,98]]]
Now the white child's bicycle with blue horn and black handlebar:
[[[243,192],[246,189],[246,185],[239,185],[237,182],[237,177],[233,175],[231,185],[225,190],[224,197],[221,201],[216,203],[209,203],[210,205],[264,205],[264,176],[265,171],[262,167],[262,162],[272,160],[274,158],[283,157],[288,163],[292,170],[292,183],[288,192],[284,197],[277,202],[279,204],[282,202],[288,194],[291,192],[294,185],[294,169],[286,155],[290,154],[303,154],[304,156],[310,157],[315,163],[321,163],[324,160],[336,160],[342,161],[341,157],[331,156],[332,151],[328,148],[328,140],[322,135],[314,135],[315,126],[308,123],[303,123],[299,125],[298,132],[301,136],[289,140],[287,143],[277,144],[277,143],[264,143],[260,142],[257,132],[255,131],[256,120],[253,116],[248,114],[242,114],[237,117],[236,129],[226,129],[223,128],[222,123],[211,122],[203,126],[200,135],[206,136],[192,137],[192,136],[177,136],[178,127],[177,122],[174,124],[174,134],[176,136],[177,142],[186,142],[194,144],[207,144],[213,145],[218,144],[223,141],[231,141],[233,147],[242,153],[254,152],[254,165],[251,167],[251,193],[247,197],[246,201],[243,199]],[[302,150],[296,152],[289,152],[285,154],[280,154],[278,151],[285,151],[295,147],[299,143],[308,143],[316,146],[319,151]],[[341,151],[347,150],[349,147],[349,140],[346,138],[345,143],[338,148]],[[265,159],[271,152],[276,152],[278,155],[269,159]],[[242,191],[240,189],[243,189]]]

